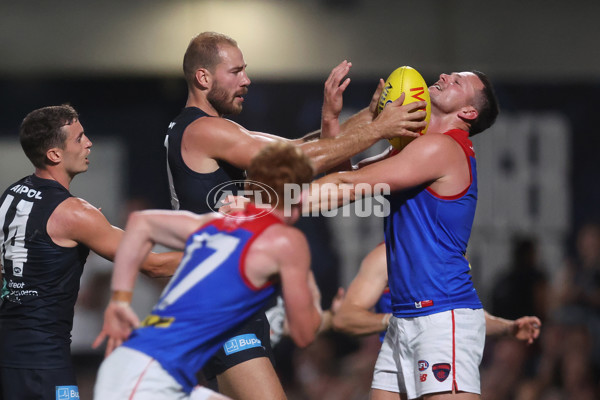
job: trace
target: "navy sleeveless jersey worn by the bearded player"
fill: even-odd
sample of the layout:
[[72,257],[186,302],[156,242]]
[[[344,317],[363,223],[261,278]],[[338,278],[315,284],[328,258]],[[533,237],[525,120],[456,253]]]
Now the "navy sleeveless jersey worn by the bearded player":
[[[244,179],[243,170],[222,160],[216,160],[219,164],[216,171],[206,174],[195,172],[185,164],[181,156],[181,140],[187,127],[202,117],[216,118],[209,116],[197,107],[186,107],[169,124],[165,147],[167,148],[171,206],[174,210],[181,209],[198,214],[214,211],[220,197],[214,196],[218,193],[213,188],[221,189],[219,193],[227,192],[235,195],[239,187],[227,183]],[[213,190],[212,193],[211,190]]]

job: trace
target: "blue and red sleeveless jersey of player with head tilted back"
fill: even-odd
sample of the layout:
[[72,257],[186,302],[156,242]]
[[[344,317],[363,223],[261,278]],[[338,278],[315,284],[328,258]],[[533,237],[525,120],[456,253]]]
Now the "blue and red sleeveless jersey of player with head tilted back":
[[394,316],[482,308],[465,258],[477,204],[477,169],[468,132],[445,133],[463,149],[471,184],[455,196],[417,187],[388,196],[384,220],[388,283]]

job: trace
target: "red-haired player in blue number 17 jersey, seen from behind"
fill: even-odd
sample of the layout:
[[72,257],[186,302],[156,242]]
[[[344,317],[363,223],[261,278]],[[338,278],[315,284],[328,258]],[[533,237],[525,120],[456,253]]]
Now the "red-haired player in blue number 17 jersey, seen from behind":
[[[308,345],[321,322],[320,295],[310,271],[304,235],[291,227],[299,207],[285,211],[284,185],[313,175],[295,146],[276,143],[259,152],[246,188],[268,186],[275,196],[230,215],[182,211],[135,213],[127,224],[112,279],[113,300],[98,341],[131,336],[103,363],[95,396],[101,399],[184,399],[217,397],[197,388],[195,372],[220,348],[226,353],[261,346],[253,334],[230,340],[281,285],[289,333]],[[254,185],[252,182],[259,182]],[[279,199],[279,201],[277,200]],[[142,324],[129,307],[137,265],[154,243],[185,248],[184,258],[158,303]],[[107,351],[112,348],[107,348]],[[263,381],[253,382],[262,386]]]

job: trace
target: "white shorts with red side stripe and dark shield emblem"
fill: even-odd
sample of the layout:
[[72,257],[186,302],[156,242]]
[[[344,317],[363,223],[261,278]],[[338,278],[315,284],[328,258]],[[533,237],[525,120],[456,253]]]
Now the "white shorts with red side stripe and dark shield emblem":
[[373,389],[425,394],[480,394],[479,364],[485,345],[482,309],[457,309],[390,319],[373,374]]

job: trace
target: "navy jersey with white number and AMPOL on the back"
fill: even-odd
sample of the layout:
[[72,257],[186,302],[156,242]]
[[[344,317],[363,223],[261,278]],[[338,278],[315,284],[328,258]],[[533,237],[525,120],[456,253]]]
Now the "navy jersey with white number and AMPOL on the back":
[[46,231],[52,212],[69,197],[58,182],[31,175],[0,198],[0,366],[71,363],[73,308],[89,249],[61,247]]

